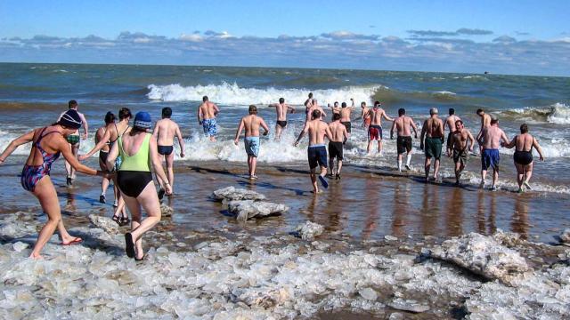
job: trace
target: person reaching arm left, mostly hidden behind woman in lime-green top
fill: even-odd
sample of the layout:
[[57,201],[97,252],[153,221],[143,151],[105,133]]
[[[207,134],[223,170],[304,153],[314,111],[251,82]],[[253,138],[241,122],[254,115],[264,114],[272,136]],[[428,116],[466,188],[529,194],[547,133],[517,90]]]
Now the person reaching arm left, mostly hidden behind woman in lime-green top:
[[[118,137],[131,130],[131,127],[128,125],[129,121],[131,120],[131,116],[132,116],[131,110],[129,110],[128,108],[121,108],[120,110],[118,110],[118,123],[108,124],[107,127],[105,128],[104,135],[95,145],[95,147],[91,149],[91,151],[87,152],[85,155],[79,156],[79,160],[84,161],[90,156],[93,156],[95,152],[101,150],[105,146],[109,146],[109,148],[112,148],[115,142],[118,140]],[[115,164],[107,165],[107,168],[109,170],[117,171],[118,168],[120,168],[121,166],[121,160],[122,158],[118,156],[117,159],[115,160]],[[116,176],[113,176],[113,183],[116,186],[118,186]],[[113,204],[113,207],[115,207],[116,209],[112,219],[115,222],[117,222],[117,224],[121,227],[129,224],[130,220],[128,218],[128,215],[126,214],[125,201],[123,200],[123,196],[121,196],[120,190],[118,190],[117,202]]]

